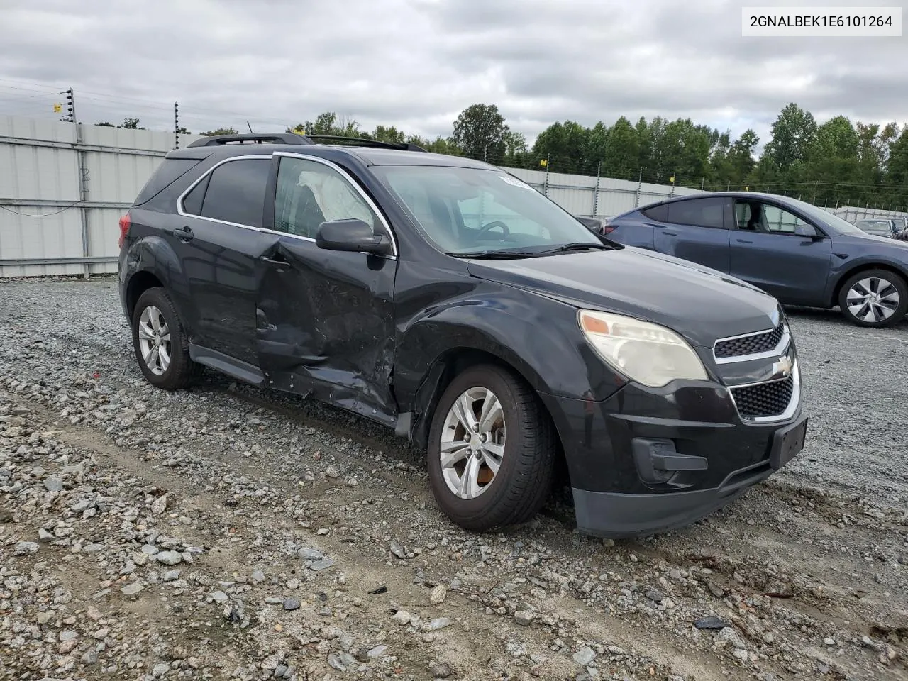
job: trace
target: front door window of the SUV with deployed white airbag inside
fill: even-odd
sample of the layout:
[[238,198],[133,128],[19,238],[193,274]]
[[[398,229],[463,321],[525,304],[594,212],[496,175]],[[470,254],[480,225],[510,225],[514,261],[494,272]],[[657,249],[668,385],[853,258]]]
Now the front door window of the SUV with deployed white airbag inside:
[[378,215],[341,173],[317,161],[281,158],[275,230],[314,239],[322,222],[351,219],[381,229]]

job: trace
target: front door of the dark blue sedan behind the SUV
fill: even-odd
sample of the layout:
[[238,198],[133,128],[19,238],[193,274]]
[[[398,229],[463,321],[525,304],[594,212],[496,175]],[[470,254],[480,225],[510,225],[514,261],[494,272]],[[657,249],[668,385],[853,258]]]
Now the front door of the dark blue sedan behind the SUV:
[[810,222],[774,203],[735,200],[731,274],[785,304],[820,305],[833,242]]

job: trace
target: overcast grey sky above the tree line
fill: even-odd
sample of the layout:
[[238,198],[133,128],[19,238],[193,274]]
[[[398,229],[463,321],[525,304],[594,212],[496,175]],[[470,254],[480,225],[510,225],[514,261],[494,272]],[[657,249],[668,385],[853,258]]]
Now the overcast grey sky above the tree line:
[[745,38],[742,5],[0,0],[0,114],[53,118],[72,85],[86,123],[173,129],[179,102],[192,132],[334,111],[434,137],[475,103],[530,141],[554,121],[624,114],[754,127],[762,145],[789,102],[821,121],[908,123],[908,37]]

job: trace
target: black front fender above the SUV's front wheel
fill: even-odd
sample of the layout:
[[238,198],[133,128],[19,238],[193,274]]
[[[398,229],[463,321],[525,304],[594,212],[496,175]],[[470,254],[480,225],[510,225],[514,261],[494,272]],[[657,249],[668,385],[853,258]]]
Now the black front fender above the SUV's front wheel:
[[577,308],[483,283],[467,297],[423,311],[400,331],[394,390],[400,410],[411,413],[417,446],[425,446],[426,417],[458,358],[478,352],[506,362],[546,395],[607,400],[625,382],[583,338]]

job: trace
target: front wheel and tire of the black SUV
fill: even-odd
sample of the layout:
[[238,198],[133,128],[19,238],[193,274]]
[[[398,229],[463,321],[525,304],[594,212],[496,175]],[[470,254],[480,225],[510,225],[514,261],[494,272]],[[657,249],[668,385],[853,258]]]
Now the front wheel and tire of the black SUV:
[[[455,402],[469,391],[479,398],[490,391],[497,398],[504,421],[504,446],[500,458],[497,452],[488,451],[479,457],[468,448],[466,459],[458,459],[455,468],[442,468],[442,440],[461,439],[464,432],[462,419],[452,413]],[[482,402],[474,402],[473,417]],[[453,424],[453,425],[452,425]],[[477,436],[487,436],[486,441],[501,440],[500,429],[486,429]],[[477,437],[474,442],[479,442]],[[479,442],[479,445],[482,443]],[[507,370],[494,365],[470,368],[451,381],[439,400],[432,416],[429,430],[429,482],[442,511],[461,528],[474,532],[487,532],[495,528],[517,525],[533,518],[545,503],[552,489],[557,454],[555,429],[548,414],[541,409],[534,391]],[[496,448],[498,449],[498,448]],[[480,458],[481,457],[481,458]],[[489,480],[489,461],[499,463],[497,474]],[[462,463],[462,465],[461,465]],[[477,471],[470,476],[474,484],[466,490],[471,498],[463,498],[449,487],[455,488],[460,473]],[[469,496],[469,495],[468,495]]]

